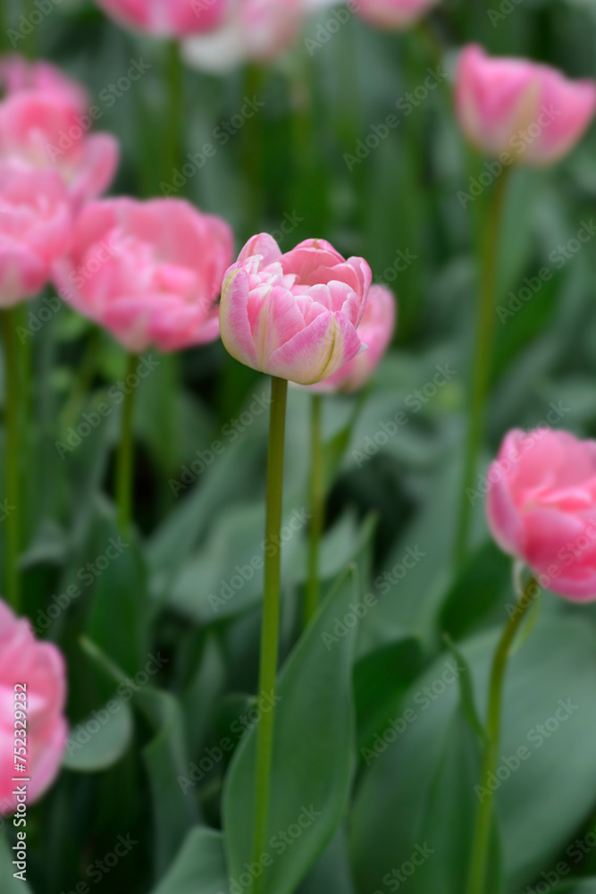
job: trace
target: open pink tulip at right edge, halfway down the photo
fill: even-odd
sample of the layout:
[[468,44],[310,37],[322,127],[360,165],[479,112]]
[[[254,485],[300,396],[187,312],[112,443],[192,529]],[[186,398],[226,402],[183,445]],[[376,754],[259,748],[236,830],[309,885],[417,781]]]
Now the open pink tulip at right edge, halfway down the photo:
[[541,586],[596,599],[596,441],[537,428],[509,432],[488,473],[492,536]]

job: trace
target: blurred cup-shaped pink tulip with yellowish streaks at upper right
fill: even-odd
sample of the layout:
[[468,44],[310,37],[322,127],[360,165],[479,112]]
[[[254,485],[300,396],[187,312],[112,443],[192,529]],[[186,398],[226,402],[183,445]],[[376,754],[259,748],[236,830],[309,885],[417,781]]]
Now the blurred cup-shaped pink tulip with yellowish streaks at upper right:
[[487,155],[507,154],[503,164],[552,164],[592,121],[596,83],[525,59],[491,59],[471,45],[457,67],[456,109],[467,139]]

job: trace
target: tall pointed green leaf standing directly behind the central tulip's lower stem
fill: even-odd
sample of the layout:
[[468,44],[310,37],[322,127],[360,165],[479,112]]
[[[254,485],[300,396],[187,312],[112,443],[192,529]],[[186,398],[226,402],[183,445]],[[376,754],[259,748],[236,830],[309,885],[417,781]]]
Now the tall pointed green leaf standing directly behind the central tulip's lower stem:
[[[355,601],[356,571],[333,587],[306,630],[279,680],[273,739],[269,849],[264,894],[290,894],[337,831],[348,805],[354,772],[354,709],[351,666],[355,628],[338,639],[334,622]],[[239,878],[254,855],[256,730],[239,746],[226,781],[224,828],[231,877]],[[291,847],[279,833],[301,821],[305,828]]]

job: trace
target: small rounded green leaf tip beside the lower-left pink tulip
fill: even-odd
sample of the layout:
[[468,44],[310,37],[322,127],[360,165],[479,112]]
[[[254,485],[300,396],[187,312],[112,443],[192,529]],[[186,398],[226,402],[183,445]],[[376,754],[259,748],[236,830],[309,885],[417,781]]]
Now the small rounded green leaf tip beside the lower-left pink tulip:
[[106,770],[121,759],[131,738],[130,707],[113,699],[70,731],[63,767],[83,773]]

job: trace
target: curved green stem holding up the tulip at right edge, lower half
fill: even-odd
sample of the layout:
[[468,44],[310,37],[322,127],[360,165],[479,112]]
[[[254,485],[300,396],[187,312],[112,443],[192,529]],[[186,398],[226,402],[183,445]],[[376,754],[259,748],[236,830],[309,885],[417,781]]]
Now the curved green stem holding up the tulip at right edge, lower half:
[[[500,719],[501,704],[503,700],[503,679],[507,669],[511,645],[516,637],[527,611],[535,603],[540,595],[540,586],[535,578],[530,578],[524,592],[517,602],[516,611],[513,612],[499,641],[495,653],[489,689],[489,709],[486,726],[487,740],[484,746],[483,769],[480,784],[484,788],[486,780],[497,769],[499,759]],[[486,882],[486,867],[491,841],[491,828],[493,816],[493,792],[488,789],[483,801],[478,807],[474,827],[474,839],[472,846],[472,860],[468,877],[467,894],[483,894]]]

